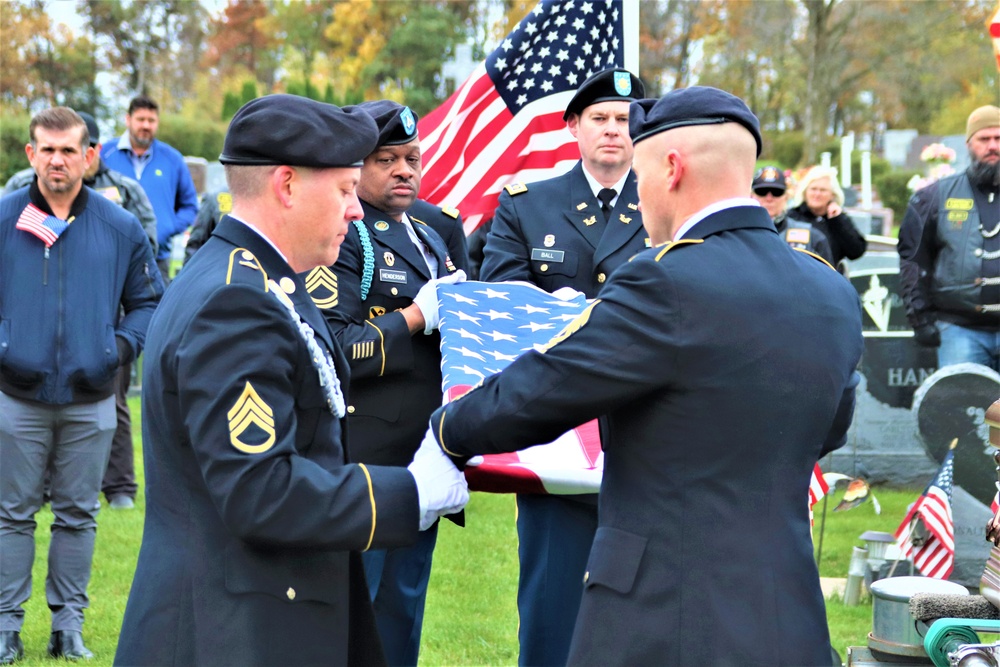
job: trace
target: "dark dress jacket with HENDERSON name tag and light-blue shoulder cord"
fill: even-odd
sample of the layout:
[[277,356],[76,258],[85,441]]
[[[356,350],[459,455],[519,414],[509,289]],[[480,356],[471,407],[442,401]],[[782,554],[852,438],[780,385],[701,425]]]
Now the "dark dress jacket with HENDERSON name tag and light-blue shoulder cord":
[[405,466],[441,405],[441,336],[410,334],[397,312],[413,303],[432,277],[457,270],[441,237],[410,218],[437,259],[437,275],[403,223],[362,201],[364,220],[348,229],[340,257],[305,277],[351,366],[352,456],[355,461]]

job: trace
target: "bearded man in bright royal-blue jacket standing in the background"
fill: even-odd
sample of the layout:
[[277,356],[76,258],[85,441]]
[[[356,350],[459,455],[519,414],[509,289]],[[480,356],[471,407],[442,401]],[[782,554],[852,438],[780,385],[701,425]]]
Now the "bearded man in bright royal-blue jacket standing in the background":
[[165,282],[170,281],[170,241],[182,233],[198,214],[198,193],[184,157],[156,138],[160,107],[145,95],[132,99],[125,115],[125,134],[101,149],[101,159],[115,171],[134,178],[153,204],[159,249],[156,263]]

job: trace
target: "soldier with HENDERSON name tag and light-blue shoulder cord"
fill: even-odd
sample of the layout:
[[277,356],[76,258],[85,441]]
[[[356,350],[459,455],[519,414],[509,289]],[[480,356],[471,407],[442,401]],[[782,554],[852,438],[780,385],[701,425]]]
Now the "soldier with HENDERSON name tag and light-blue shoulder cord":
[[[351,460],[406,465],[441,405],[439,282],[464,279],[441,237],[409,210],[420,190],[417,115],[389,100],[360,109],[378,124],[358,183],[354,221],[333,266],[305,284],[351,365]],[[391,665],[416,665],[437,527],[412,546],[363,556],[375,619]]]

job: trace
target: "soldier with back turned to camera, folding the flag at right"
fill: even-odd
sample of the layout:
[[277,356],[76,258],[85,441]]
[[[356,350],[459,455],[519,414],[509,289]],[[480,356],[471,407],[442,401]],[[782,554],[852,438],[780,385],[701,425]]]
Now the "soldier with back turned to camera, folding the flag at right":
[[741,100],[687,88],[629,118],[655,247],[544,352],[436,411],[430,437],[461,462],[601,420],[567,664],[830,664],[806,499],[851,423],[857,292],[747,196],[760,131]]

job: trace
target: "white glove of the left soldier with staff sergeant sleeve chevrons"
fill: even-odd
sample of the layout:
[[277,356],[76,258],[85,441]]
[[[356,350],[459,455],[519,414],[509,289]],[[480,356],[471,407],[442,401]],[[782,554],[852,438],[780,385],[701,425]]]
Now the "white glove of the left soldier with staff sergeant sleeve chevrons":
[[454,514],[469,502],[465,475],[441,451],[430,428],[407,470],[417,483],[420,530],[427,530],[438,517]]

